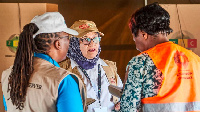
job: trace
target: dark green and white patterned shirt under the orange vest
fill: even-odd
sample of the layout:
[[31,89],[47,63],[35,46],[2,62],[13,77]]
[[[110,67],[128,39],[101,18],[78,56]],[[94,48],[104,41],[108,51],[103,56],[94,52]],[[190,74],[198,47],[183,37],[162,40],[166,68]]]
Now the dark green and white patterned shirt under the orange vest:
[[120,100],[120,111],[141,111],[141,99],[156,96],[164,77],[146,53],[133,57],[127,69],[128,67],[128,77]]

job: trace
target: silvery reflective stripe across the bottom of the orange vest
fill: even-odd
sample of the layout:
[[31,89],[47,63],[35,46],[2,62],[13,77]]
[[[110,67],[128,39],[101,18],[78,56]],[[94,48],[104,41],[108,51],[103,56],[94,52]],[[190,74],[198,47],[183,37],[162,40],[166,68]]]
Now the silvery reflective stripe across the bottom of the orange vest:
[[186,103],[164,103],[164,104],[144,104],[142,107],[144,112],[184,112],[184,111],[200,111],[200,102]]

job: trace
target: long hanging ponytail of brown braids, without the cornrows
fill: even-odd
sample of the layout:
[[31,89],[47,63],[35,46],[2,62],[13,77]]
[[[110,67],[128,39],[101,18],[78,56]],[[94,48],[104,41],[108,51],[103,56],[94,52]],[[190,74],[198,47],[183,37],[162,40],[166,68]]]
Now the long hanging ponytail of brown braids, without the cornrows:
[[29,84],[30,75],[33,72],[34,40],[33,34],[38,31],[38,27],[27,24],[19,36],[19,43],[11,74],[8,78],[8,91],[13,105],[22,110]]

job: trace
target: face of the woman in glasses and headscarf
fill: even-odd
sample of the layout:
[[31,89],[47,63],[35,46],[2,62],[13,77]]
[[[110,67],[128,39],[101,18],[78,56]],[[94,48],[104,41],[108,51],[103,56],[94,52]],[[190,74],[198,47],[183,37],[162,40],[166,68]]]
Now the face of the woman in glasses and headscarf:
[[[86,38],[94,39],[95,37],[98,37],[97,33],[89,32],[85,36],[81,37],[81,39],[86,39]],[[98,54],[98,49],[99,49],[99,41],[91,40],[90,44],[85,45],[83,41],[80,40],[80,50],[85,58],[93,59]]]

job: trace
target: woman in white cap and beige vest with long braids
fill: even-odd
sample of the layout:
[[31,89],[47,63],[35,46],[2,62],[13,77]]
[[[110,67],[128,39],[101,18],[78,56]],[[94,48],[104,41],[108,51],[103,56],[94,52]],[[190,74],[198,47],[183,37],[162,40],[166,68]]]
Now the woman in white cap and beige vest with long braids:
[[36,16],[24,26],[14,65],[2,74],[6,111],[83,111],[82,81],[58,64],[66,58],[69,34],[78,33],[58,12]]

